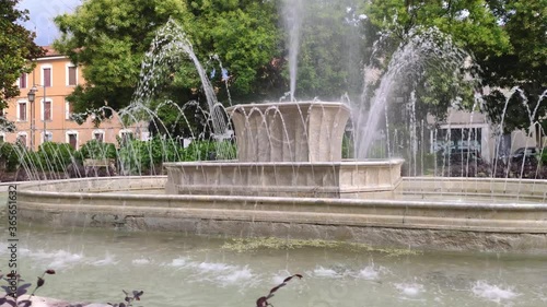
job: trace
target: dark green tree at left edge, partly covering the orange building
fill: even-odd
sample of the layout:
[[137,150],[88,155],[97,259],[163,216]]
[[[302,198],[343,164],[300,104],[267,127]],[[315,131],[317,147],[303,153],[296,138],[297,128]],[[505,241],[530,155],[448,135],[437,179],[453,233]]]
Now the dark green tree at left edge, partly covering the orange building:
[[45,54],[34,43],[35,34],[20,24],[28,20],[28,11],[16,9],[19,0],[0,0],[0,109],[20,94],[18,78],[31,72],[33,60]]

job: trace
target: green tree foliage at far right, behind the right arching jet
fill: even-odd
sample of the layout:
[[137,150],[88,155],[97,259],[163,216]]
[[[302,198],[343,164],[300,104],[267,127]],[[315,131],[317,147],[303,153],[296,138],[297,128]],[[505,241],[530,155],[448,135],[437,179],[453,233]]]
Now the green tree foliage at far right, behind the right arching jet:
[[[507,114],[511,116],[503,118],[505,132],[528,129],[532,122],[547,128],[547,104],[540,98],[547,90],[547,1],[373,0],[364,5],[364,12],[370,25],[377,28],[376,33],[384,35],[374,67],[385,66],[411,31],[434,26],[474,57],[480,67],[475,72],[482,85],[522,90],[509,99]],[[461,97],[462,106],[467,109],[474,105],[473,87],[465,86],[454,75],[434,70],[424,72],[421,79],[407,78],[418,80],[416,94],[421,103],[418,115],[423,117],[429,113],[442,121],[455,96]],[[492,122],[502,121],[505,102],[508,98],[498,91],[486,96],[485,110]],[[534,113],[534,109],[537,110]]]

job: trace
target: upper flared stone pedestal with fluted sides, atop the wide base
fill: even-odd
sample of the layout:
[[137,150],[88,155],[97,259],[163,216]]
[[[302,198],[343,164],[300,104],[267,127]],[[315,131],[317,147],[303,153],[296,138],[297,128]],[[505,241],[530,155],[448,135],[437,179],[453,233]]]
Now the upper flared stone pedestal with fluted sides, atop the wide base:
[[340,103],[275,103],[226,109],[238,162],[336,162],[350,109]]

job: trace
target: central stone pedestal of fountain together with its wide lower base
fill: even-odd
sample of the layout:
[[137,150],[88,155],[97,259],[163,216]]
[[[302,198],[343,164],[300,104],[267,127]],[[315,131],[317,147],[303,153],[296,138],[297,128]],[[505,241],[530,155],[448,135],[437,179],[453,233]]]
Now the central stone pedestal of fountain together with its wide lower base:
[[319,102],[230,107],[238,161],[165,163],[166,193],[393,198],[403,160],[341,161],[349,111]]

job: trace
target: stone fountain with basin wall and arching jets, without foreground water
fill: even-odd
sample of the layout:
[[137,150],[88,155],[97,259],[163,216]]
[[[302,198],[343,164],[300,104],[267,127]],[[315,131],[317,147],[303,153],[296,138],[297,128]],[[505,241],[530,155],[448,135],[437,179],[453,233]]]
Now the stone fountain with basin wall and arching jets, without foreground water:
[[[143,61],[144,85],[139,85],[129,110],[152,113],[147,103],[156,84],[154,72],[162,76],[162,63],[173,64],[188,55],[211,97],[212,131],[225,138],[233,122],[238,160],[165,163],[167,176],[27,184],[19,191],[21,219],[55,226],[545,251],[546,180],[401,177],[399,158],[342,160],[342,135],[352,113],[346,104],[295,102],[291,94],[288,103],[224,109],[184,31],[170,21],[159,34]],[[434,48],[429,40],[424,44],[426,51]],[[400,50],[395,59],[415,59],[406,46]],[[424,64],[422,59],[415,62]],[[405,69],[391,67],[395,69],[381,82],[381,94]],[[376,102],[373,109],[385,106],[385,97]],[[372,128],[377,122],[369,121]],[[370,143],[363,138],[358,152]]]

